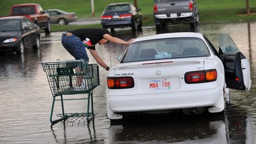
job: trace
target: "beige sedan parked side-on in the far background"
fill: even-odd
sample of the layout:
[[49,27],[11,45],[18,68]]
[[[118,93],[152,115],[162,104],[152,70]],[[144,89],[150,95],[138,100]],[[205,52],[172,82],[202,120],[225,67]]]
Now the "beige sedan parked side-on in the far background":
[[77,18],[75,12],[65,12],[57,9],[47,10],[47,12],[50,14],[51,23],[53,24],[68,25],[68,23],[76,21]]

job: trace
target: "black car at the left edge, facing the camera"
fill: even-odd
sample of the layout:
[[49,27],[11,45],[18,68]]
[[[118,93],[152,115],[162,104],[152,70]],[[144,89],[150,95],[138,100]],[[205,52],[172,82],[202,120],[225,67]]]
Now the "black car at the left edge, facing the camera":
[[0,52],[23,53],[40,47],[40,28],[25,16],[0,18]]

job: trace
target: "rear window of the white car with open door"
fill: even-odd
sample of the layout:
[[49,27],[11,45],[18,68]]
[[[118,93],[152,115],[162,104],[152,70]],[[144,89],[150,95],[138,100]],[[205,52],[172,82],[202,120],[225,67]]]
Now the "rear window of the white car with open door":
[[208,57],[207,46],[199,38],[168,38],[134,42],[126,49],[121,63],[184,57]]

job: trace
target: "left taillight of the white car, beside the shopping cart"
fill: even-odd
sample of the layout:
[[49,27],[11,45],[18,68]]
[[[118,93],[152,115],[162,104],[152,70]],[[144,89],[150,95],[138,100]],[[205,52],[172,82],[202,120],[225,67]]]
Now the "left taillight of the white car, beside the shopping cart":
[[130,76],[125,77],[107,77],[109,89],[128,89],[134,87],[134,80]]

